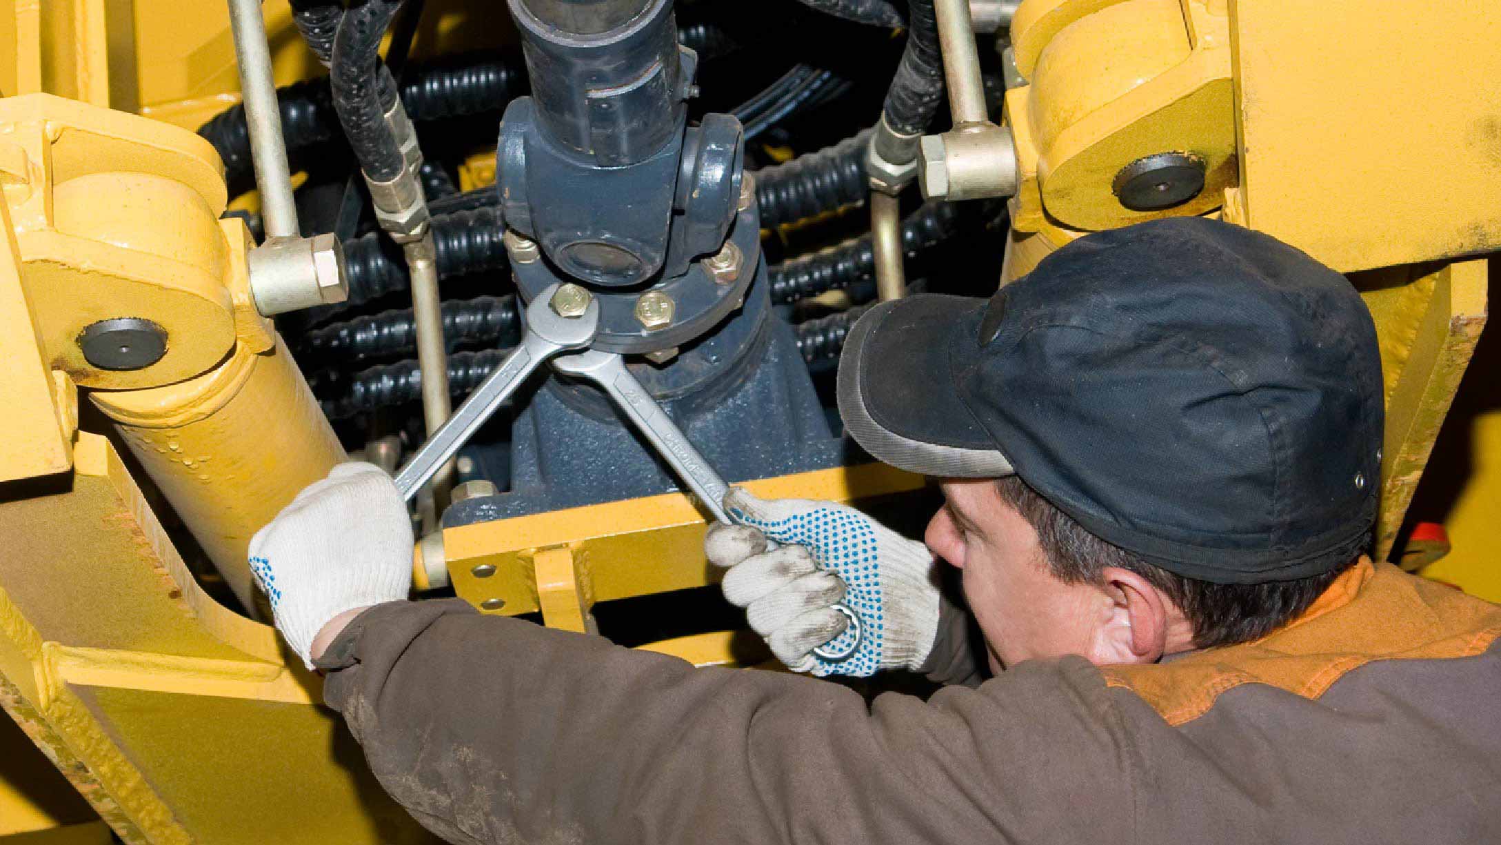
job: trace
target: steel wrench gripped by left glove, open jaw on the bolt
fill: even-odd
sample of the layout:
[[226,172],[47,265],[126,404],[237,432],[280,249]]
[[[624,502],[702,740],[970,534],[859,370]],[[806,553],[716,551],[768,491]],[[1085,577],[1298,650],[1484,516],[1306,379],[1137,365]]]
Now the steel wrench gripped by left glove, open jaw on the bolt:
[[551,306],[558,285],[551,285],[531,300],[516,348],[479,383],[449,422],[438,426],[396,474],[396,489],[402,498],[410,501],[537,366],[558,353],[581,350],[594,341],[599,332],[599,300],[591,299],[578,317],[563,317]]

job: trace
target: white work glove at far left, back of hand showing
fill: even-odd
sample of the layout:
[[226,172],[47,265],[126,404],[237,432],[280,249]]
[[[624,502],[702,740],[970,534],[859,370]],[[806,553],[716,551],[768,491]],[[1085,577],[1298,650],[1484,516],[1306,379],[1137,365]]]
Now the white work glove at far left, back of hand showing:
[[251,572],[308,668],[312,638],[354,608],[411,591],[411,518],[390,476],[339,464],[251,539]]

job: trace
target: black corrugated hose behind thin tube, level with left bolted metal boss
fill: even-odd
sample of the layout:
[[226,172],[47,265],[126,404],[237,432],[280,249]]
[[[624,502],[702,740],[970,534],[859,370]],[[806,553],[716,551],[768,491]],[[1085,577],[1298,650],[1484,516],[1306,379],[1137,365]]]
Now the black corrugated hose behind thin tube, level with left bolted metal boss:
[[[440,279],[509,266],[506,246],[501,243],[504,230],[500,209],[491,206],[434,215],[431,227]],[[341,306],[356,306],[407,290],[407,261],[401,248],[381,237],[381,233],[372,231],[344,242],[344,266],[350,297]]]

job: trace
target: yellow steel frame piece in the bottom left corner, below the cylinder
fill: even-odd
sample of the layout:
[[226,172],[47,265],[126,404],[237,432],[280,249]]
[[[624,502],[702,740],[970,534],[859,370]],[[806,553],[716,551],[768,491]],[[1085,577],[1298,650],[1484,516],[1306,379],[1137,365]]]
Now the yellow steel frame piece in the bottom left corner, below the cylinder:
[[0,707],[122,839],[432,840],[338,762],[320,680],[203,593],[105,438],[14,482],[0,536]]

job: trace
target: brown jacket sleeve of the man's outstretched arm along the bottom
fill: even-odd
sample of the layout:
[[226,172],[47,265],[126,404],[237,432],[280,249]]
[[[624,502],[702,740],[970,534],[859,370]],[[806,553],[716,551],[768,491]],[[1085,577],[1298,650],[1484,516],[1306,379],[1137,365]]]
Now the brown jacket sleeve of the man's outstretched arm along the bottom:
[[453,599],[378,605],[320,665],[381,783],[450,842],[1081,842],[1133,812],[1079,659],[868,705]]

